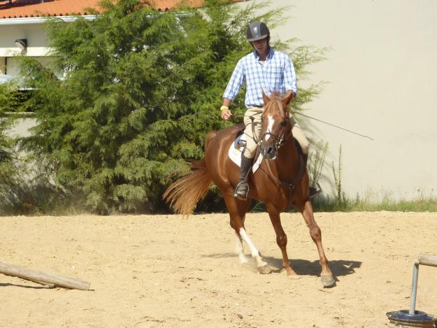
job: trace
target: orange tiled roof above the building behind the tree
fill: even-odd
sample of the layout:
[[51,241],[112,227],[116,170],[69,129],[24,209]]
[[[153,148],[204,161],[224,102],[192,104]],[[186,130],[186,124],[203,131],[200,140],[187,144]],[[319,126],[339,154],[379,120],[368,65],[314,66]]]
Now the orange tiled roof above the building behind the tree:
[[[40,16],[89,15],[85,8],[101,10],[100,0],[0,0],[0,19]],[[178,0],[152,0],[157,10],[169,10]],[[202,0],[188,0],[189,6],[199,7]]]

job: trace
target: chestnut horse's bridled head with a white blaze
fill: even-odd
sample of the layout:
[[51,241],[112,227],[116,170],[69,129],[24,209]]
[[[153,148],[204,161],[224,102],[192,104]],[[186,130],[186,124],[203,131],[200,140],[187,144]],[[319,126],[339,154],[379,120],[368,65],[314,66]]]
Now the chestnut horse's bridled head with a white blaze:
[[275,159],[278,148],[287,137],[291,137],[291,122],[288,106],[293,98],[292,92],[280,97],[273,93],[269,98],[262,94],[264,112],[261,123],[261,154],[266,159]]

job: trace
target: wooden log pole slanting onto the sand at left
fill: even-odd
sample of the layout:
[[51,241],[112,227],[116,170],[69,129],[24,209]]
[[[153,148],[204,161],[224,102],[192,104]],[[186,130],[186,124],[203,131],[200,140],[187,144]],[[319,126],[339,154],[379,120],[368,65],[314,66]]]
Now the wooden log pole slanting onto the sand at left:
[[35,283],[45,283],[47,285],[55,285],[59,287],[71,288],[73,290],[89,290],[89,283],[72,278],[53,276],[41,271],[24,269],[20,266],[6,264],[0,262],[0,273],[7,276],[14,276],[26,280],[34,281]]

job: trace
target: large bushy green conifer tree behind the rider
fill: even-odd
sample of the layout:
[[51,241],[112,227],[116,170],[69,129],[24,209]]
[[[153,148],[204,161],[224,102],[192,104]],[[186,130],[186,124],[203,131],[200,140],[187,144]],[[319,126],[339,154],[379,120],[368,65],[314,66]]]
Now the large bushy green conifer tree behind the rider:
[[[22,59],[34,88],[25,106],[38,124],[20,145],[66,197],[96,213],[165,208],[161,195],[170,174],[186,167],[186,159],[201,158],[208,131],[226,126],[218,108],[236,62],[252,51],[248,24],[282,17],[282,8],[257,17],[265,3],[238,9],[207,0],[201,9],[164,13],[142,3],[106,0],[96,20],[52,20],[49,37],[64,80]],[[291,49],[303,75],[321,52],[289,48],[294,42],[275,46]],[[317,90],[301,89],[295,109]],[[243,96],[234,102],[236,113],[244,111]]]

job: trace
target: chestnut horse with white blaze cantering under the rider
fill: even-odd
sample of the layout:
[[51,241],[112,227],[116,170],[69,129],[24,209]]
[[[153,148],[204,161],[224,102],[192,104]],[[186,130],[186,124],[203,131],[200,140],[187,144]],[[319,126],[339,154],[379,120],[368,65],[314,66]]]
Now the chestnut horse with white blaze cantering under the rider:
[[276,242],[282,252],[282,266],[288,275],[295,275],[287,255],[287,235],[282,229],[280,213],[294,205],[303,215],[310,236],[317,245],[322,266],[321,280],[325,287],[334,285],[335,279],[324,255],[320,227],[314,220],[313,206],[308,190],[308,172],[296,148],[292,136],[292,124],[288,110],[292,94],[281,98],[263,93],[262,137],[259,142],[264,157],[259,169],[251,171],[248,182],[250,192],[247,200],[236,199],[234,190],[238,182],[239,169],[228,155],[238,129],[229,127],[218,132],[210,132],[205,142],[205,156],[192,163],[192,171],[175,181],[164,193],[176,213],[189,215],[197,202],[202,199],[212,183],[223,194],[228,208],[231,227],[235,230],[236,254],[240,262],[247,262],[243,253],[243,241],[250,248],[257,261],[260,273],[270,273],[271,269],[263,261],[261,254],[245,231],[245,213],[253,199],[264,202],[275,229]]

